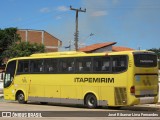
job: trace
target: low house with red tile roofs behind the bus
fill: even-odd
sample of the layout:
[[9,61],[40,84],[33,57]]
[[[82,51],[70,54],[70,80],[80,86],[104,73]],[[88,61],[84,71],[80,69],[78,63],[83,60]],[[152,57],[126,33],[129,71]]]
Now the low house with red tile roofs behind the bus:
[[118,51],[134,50],[128,47],[113,46],[116,43],[117,42],[97,43],[97,44],[80,48],[79,51],[86,52],[86,53],[97,53],[97,52],[106,52],[106,51],[118,52]]

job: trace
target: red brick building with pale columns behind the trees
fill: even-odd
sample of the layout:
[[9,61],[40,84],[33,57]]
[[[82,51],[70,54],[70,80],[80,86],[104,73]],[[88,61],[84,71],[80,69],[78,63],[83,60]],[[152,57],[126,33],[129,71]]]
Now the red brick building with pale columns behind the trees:
[[44,30],[18,29],[22,41],[44,44],[46,52],[57,52],[62,41]]

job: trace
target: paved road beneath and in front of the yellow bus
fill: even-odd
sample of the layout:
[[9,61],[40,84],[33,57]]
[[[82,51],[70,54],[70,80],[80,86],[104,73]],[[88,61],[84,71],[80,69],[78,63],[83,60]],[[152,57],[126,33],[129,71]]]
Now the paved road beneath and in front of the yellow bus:
[[[13,101],[4,101],[1,99],[0,101],[0,114],[2,114],[2,112],[4,111],[8,111],[8,112],[12,112],[11,114],[13,115],[13,113],[16,112],[15,115],[17,115],[17,111],[19,111],[21,114],[22,112],[25,114],[28,114],[28,112],[38,112],[40,114],[43,114],[43,111],[47,111],[46,114],[53,116],[54,115],[59,115],[59,117],[43,117],[42,118],[36,118],[38,119],[43,119],[43,120],[47,120],[47,119],[57,119],[57,120],[62,120],[62,119],[67,119],[67,120],[105,120],[105,119],[111,119],[111,120],[153,120],[153,119],[160,119],[160,105],[143,105],[143,106],[134,106],[134,107],[123,107],[121,109],[109,109],[109,108],[98,108],[98,109],[87,109],[83,106],[73,106],[73,105],[60,105],[60,104],[49,104],[49,105],[40,105],[39,103],[28,103],[28,104],[19,104],[17,102],[13,102]],[[49,111],[49,112],[48,112]],[[59,113],[56,113],[56,111],[61,111]],[[62,112],[62,111],[66,111],[66,112]],[[76,115],[78,112],[78,116],[84,116],[84,117],[71,117],[72,115]],[[145,112],[149,112],[150,114],[157,114],[159,113],[159,117],[108,117],[107,115],[113,114],[113,113],[125,113],[125,114],[131,114],[131,113],[145,113]],[[56,114],[55,114],[56,113]],[[80,113],[80,114],[79,114]],[[106,113],[106,117],[85,117],[85,116],[92,116],[94,115],[99,115],[101,113]],[[46,115],[45,114],[45,115]],[[38,115],[38,114],[37,114]],[[66,117],[66,116],[70,116],[70,117]],[[2,116],[2,115],[0,115]],[[61,116],[61,117],[60,117]],[[1,118],[0,118],[1,119]],[[10,118],[3,118],[3,119],[10,119]],[[12,119],[21,119],[21,118],[12,118]],[[28,118],[23,118],[28,120]],[[35,118],[29,118],[31,120],[35,119]]]

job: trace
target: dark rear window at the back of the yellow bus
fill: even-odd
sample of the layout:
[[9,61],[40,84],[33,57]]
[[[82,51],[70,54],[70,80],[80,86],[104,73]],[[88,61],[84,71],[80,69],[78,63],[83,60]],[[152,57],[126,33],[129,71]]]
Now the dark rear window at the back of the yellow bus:
[[136,67],[156,67],[157,56],[153,53],[134,53]]

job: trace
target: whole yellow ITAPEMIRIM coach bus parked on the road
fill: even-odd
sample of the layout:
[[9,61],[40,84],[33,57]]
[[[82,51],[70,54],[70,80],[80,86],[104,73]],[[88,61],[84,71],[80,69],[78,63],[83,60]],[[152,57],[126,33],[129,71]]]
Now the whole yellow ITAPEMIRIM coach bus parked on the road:
[[149,51],[55,52],[8,61],[4,99],[19,103],[132,106],[158,101],[157,56]]

